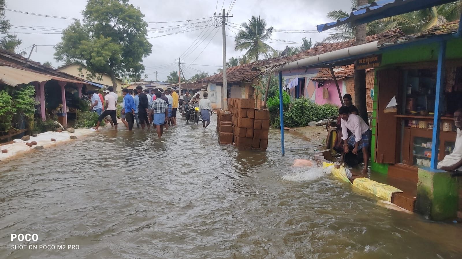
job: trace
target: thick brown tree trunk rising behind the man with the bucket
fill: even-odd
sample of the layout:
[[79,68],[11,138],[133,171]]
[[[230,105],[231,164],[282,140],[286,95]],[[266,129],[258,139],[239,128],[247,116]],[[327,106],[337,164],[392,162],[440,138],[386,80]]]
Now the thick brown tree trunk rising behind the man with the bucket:
[[[358,6],[367,5],[367,0],[358,0]],[[361,45],[366,43],[366,24],[356,26],[356,44]],[[358,65],[358,61],[354,63]],[[354,71],[354,102],[359,110],[359,116],[364,119],[366,124],[369,124],[367,118],[367,105],[366,105],[366,71],[355,70]]]

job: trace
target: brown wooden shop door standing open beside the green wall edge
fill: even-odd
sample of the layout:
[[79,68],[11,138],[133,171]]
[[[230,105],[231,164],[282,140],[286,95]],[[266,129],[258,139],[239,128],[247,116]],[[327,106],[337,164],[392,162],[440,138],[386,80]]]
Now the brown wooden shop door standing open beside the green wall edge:
[[[377,71],[378,73],[378,108],[377,108],[377,143],[376,162],[395,164],[398,161],[397,142],[401,136],[397,134],[398,123],[396,112],[383,112],[393,96],[400,100],[399,85],[401,73],[396,69]],[[399,103],[399,101],[398,101]]]

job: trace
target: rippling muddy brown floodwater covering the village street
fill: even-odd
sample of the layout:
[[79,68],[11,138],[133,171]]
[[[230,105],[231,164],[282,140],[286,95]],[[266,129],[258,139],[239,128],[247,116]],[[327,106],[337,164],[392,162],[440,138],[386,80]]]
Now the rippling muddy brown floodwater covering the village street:
[[[281,156],[273,130],[267,152],[238,151],[217,143],[215,118],[205,133],[104,129],[1,162],[0,258],[461,258],[459,224],[291,166],[318,142],[287,133]],[[11,241],[21,233],[38,240]]]

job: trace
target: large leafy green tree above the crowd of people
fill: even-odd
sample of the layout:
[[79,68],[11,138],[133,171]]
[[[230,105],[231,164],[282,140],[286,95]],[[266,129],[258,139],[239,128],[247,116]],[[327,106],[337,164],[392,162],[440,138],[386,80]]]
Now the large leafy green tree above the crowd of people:
[[117,77],[140,78],[144,57],[152,53],[147,23],[139,8],[128,0],[88,0],[82,11],[85,22],[75,21],[63,30],[55,59],[74,59],[91,77],[108,74],[116,88]]

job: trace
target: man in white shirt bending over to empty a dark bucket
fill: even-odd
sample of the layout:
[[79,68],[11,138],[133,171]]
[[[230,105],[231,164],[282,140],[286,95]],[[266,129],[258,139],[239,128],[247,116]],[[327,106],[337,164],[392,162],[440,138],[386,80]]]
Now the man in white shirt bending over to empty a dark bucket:
[[343,155],[350,152],[350,147],[353,147],[352,153],[357,155],[359,150],[363,151],[364,158],[364,169],[362,173],[367,173],[367,165],[369,163],[369,146],[371,143],[371,130],[369,125],[359,117],[359,115],[351,114],[350,108],[342,106],[339,109],[339,116],[341,118],[341,127],[342,132],[350,130],[353,134],[348,137],[348,135],[343,135],[342,140],[345,141],[343,144]]

